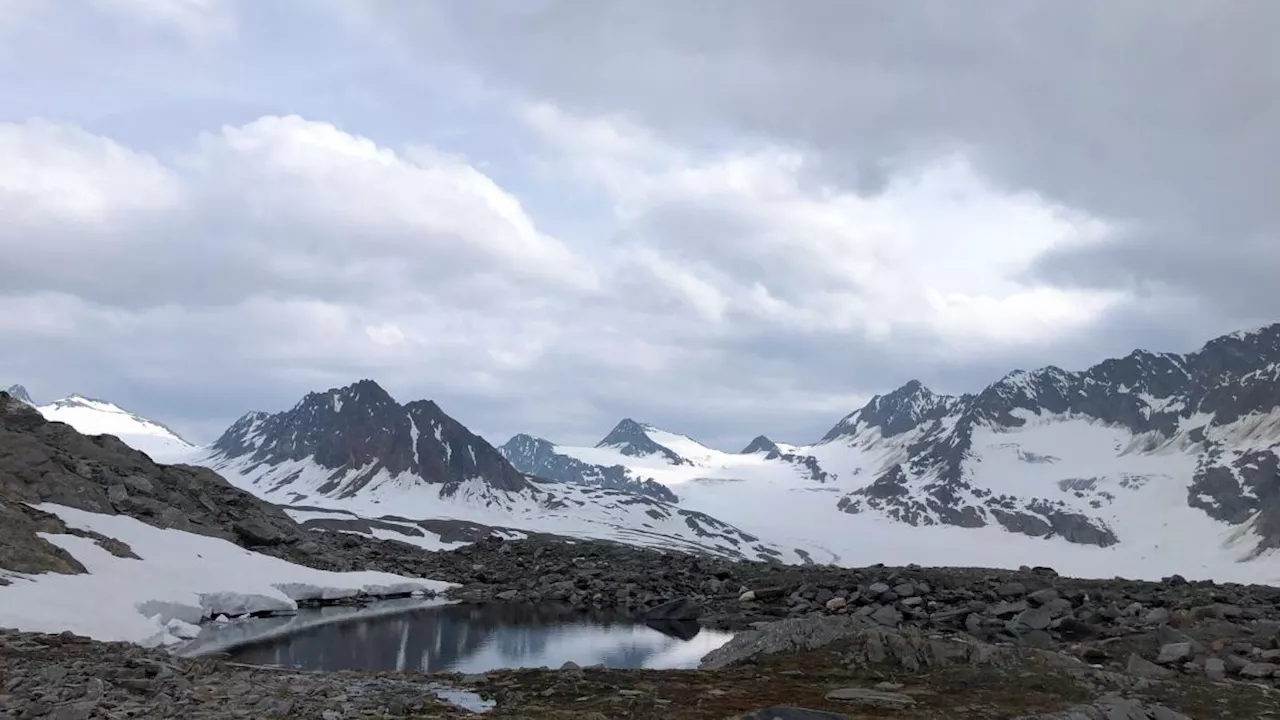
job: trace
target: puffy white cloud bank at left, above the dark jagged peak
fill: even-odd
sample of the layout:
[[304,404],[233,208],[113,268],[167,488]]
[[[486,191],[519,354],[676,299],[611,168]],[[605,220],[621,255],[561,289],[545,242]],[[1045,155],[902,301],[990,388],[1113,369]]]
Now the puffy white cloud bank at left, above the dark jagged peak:
[[[0,126],[18,287],[147,306],[445,291],[486,272],[589,290],[590,269],[466,161],[266,117],[169,164],[78,128]],[[110,259],[134,277],[102,273]]]

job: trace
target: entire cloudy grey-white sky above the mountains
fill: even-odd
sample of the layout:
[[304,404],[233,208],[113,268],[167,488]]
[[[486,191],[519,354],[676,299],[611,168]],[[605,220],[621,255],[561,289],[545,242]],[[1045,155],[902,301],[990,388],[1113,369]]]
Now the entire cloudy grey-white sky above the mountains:
[[[980,12],[979,12],[980,10]],[[1280,320],[1272,0],[0,0],[0,386],[812,442]]]

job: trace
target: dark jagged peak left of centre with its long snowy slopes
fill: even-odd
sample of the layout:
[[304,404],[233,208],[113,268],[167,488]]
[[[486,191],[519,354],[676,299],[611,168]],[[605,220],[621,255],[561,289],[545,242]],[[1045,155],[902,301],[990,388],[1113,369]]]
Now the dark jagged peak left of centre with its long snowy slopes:
[[316,507],[355,512],[384,530],[403,529],[407,519],[451,519],[733,557],[799,557],[662,498],[521,473],[434,402],[401,405],[372,380],[312,392],[284,413],[250,413],[191,461],[264,500],[306,507],[308,516],[324,515]]

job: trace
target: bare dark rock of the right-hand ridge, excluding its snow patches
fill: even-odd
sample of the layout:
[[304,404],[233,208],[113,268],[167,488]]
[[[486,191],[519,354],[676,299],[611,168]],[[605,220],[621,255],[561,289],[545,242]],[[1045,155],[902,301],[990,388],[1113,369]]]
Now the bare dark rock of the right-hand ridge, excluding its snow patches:
[[[1224,439],[1212,430],[1277,410],[1280,324],[1224,336],[1187,355],[1139,350],[1080,373],[1053,366],[1016,370],[979,393],[959,397],[936,395],[911,380],[844,418],[823,442],[913,433],[905,461],[842,498],[846,511],[874,509],[910,524],[982,527],[995,521],[1032,537],[1108,546],[1121,538],[1098,518],[1060,501],[993,496],[975,486],[965,468],[974,430],[1015,429],[1027,423],[1027,415],[1057,415],[1125,428],[1142,438],[1139,450],[1156,450],[1180,437],[1194,445],[1190,452],[1201,452],[1188,503],[1230,524],[1257,516],[1261,552],[1280,547],[1280,457],[1275,451],[1280,436],[1262,427]],[[1019,457],[1029,464],[1059,460]],[[1076,497],[1093,495],[1093,507],[1112,500],[1094,492],[1088,478],[1066,486],[1062,489]]]

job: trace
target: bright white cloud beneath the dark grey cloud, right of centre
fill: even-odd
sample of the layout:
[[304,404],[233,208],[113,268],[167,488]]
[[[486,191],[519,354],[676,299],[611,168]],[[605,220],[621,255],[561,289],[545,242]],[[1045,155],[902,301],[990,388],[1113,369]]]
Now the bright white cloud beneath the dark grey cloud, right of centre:
[[524,115],[605,188],[634,268],[709,322],[735,313],[991,351],[1088,327],[1124,300],[1029,282],[1039,258],[1103,242],[1107,223],[993,187],[963,156],[859,195],[794,147],[695,154],[625,119],[547,104]]

